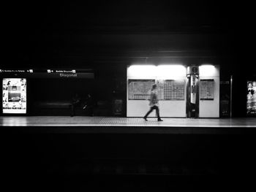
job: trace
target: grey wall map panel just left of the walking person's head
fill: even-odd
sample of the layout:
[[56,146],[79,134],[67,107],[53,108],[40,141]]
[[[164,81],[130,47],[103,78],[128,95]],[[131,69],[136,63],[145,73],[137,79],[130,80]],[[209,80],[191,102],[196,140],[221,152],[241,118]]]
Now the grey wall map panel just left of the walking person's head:
[[155,80],[128,80],[129,100],[148,100]]

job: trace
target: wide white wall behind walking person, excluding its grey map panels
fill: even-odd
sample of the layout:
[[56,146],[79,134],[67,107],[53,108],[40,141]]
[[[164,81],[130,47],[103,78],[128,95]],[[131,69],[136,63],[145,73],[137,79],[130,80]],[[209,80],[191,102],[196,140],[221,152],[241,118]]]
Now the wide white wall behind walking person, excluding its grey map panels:
[[[133,65],[127,68],[127,88],[129,79],[143,80],[187,80],[187,69],[182,65],[166,64],[159,66]],[[161,117],[186,117],[186,91],[185,99],[178,101],[159,101]],[[149,101],[128,100],[127,90],[127,117],[143,117],[149,110]],[[155,117],[155,111],[148,117]]]

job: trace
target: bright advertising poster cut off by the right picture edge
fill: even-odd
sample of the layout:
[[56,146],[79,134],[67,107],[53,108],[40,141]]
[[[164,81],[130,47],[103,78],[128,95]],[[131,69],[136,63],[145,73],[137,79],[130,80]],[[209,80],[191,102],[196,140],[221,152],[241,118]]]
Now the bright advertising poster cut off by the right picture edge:
[[247,81],[247,114],[256,114],[256,81]]

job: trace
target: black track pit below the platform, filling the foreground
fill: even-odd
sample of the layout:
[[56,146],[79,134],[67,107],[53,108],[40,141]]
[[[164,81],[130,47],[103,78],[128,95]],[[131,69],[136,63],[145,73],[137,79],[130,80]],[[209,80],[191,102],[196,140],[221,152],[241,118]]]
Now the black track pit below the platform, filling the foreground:
[[253,125],[222,134],[206,127],[193,134],[61,131],[71,128],[1,126],[7,191],[251,191],[254,185]]

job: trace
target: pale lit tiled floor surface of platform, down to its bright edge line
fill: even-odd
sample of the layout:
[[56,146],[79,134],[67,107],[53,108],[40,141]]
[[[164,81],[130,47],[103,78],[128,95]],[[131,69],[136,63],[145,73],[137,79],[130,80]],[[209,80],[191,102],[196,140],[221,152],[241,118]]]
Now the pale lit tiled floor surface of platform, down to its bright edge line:
[[255,127],[256,118],[116,118],[85,116],[0,117],[0,126],[132,126],[132,127]]

